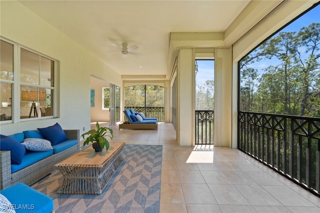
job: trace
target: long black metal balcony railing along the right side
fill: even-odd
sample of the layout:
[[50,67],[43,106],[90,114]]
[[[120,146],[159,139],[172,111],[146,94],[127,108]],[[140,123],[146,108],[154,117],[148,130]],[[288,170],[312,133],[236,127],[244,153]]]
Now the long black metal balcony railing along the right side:
[[238,112],[238,149],[320,195],[320,118]]

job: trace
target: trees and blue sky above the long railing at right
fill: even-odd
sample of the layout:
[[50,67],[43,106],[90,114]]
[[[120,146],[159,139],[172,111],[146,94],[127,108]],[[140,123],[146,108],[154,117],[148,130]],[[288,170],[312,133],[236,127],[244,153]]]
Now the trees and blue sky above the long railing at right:
[[320,23],[311,23],[275,34],[244,57],[240,110],[320,117],[319,45]]

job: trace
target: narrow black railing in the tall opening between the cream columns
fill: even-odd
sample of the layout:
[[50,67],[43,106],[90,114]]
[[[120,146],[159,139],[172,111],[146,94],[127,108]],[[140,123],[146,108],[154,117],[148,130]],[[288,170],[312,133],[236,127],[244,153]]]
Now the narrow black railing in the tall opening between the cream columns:
[[213,144],[213,110],[195,110],[195,144]]

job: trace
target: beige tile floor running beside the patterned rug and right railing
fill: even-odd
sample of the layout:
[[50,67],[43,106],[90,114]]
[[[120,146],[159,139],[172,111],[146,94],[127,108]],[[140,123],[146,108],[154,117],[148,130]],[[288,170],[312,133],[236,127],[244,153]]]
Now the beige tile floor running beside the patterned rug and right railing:
[[163,145],[160,212],[320,212],[320,197],[237,149],[179,146],[171,123],[112,128],[114,142]]

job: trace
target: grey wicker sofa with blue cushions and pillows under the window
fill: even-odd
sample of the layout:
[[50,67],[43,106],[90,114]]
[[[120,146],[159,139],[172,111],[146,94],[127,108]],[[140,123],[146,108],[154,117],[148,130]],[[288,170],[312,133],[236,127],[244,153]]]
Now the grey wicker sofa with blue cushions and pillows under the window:
[[0,190],[33,184],[80,148],[79,129],[62,129],[58,123],[0,137]]

